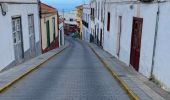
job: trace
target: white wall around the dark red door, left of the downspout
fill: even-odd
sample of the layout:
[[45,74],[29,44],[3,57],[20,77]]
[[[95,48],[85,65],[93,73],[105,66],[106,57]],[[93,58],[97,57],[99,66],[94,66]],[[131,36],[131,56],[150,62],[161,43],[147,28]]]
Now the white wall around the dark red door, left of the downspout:
[[[130,8],[133,6],[133,8]],[[147,10],[146,10],[147,9]],[[130,65],[131,53],[131,33],[133,17],[143,18],[142,40],[141,40],[141,56],[140,56],[140,73],[150,77],[153,43],[156,25],[157,4],[108,4],[107,12],[111,14],[110,32],[105,24],[105,41],[104,49],[117,57],[117,34],[118,34],[118,17],[122,16],[122,33],[120,41],[119,60]],[[107,18],[107,13],[105,15]],[[152,17],[152,18],[151,18]],[[107,22],[107,19],[105,20]],[[147,49],[146,49],[147,48]]]

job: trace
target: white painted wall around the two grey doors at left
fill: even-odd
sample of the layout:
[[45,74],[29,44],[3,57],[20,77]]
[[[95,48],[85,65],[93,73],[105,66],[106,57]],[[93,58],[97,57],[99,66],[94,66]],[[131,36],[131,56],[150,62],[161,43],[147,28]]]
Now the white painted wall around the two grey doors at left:
[[[39,44],[39,12],[37,4],[7,4],[8,12],[2,16],[0,10],[0,70],[14,62],[14,45],[12,36],[12,17],[21,16],[24,52],[30,48],[28,33],[28,15],[34,14],[35,39]],[[22,10],[21,10],[22,9]],[[40,45],[38,45],[40,47]],[[38,49],[37,49],[38,50]]]

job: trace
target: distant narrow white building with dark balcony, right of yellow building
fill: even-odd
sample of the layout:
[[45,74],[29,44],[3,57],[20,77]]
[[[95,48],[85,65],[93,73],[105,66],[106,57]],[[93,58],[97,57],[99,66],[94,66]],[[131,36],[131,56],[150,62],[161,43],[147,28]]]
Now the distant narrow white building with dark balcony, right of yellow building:
[[84,4],[83,5],[83,16],[82,16],[82,26],[83,26],[83,40],[90,42],[90,5]]

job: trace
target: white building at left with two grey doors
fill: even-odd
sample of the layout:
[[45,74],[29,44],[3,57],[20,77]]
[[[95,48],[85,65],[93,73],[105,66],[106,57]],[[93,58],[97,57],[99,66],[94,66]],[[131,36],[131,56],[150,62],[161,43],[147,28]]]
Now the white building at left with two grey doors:
[[0,0],[0,70],[41,53],[37,0]]

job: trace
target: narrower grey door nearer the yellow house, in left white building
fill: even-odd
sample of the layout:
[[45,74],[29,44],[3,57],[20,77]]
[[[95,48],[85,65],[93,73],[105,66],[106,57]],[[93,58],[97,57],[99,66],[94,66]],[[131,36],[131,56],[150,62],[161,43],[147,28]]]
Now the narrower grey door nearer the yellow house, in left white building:
[[29,40],[30,40],[30,56],[35,56],[35,31],[34,31],[34,16],[28,16]]

